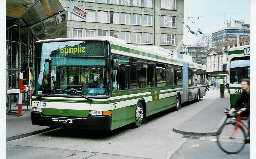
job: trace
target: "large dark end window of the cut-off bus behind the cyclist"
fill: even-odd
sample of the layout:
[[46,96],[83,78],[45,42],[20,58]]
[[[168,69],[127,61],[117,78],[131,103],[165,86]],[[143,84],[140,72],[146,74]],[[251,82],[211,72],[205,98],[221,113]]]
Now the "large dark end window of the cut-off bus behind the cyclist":
[[231,84],[239,84],[243,78],[250,78],[250,60],[231,61],[229,76]]

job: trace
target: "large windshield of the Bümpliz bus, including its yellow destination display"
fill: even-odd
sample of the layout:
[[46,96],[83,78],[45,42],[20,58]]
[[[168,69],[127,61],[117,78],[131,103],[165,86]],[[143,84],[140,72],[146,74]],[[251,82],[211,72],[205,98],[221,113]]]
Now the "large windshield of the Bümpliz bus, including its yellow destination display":
[[61,41],[36,45],[33,93],[107,96],[108,47],[103,41]]

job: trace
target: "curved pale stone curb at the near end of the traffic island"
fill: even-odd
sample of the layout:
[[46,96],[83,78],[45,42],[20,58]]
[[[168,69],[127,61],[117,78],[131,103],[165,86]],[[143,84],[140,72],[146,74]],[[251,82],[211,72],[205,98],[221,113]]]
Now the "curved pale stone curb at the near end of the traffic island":
[[[178,127],[173,127],[172,130],[174,132],[177,132],[177,133],[180,133],[183,135],[189,135],[189,136],[215,136],[215,135],[218,135],[219,128],[226,122],[226,120],[227,120],[227,116],[226,116],[226,114],[224,114],[223,117],[221,118],[219,124],[216,126],[215,130],[212,130],[212,131],[182,130]],[[183,122],[183,123],[185,123],[185,122]]]

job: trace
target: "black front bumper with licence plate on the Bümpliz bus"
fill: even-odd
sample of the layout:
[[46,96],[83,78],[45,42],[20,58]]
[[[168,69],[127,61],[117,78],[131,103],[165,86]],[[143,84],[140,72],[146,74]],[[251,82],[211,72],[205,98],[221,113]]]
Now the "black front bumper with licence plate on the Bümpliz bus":
[[82,128],[90,130],[111,130],[112,115],[89,115],[82,117],[47,116],[41,112],[31,112],[33,125],[62,128]]

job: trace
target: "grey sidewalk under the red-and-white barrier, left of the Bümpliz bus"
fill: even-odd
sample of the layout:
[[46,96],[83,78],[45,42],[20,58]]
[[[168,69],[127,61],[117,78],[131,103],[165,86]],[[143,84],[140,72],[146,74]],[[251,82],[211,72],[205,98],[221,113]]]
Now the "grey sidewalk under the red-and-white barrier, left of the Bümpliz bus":
[[22,110],[21,114],[21,117],[6,114],[6,141],[55,129],[52,127],[32,125],[30,110]]

